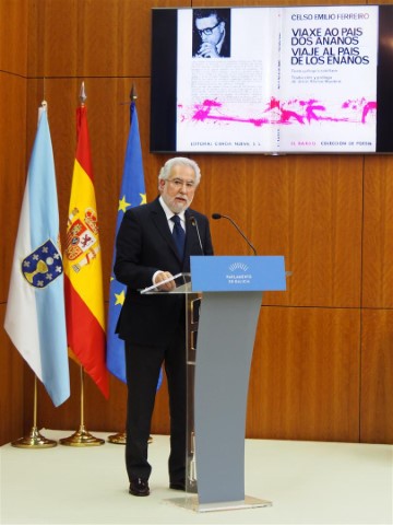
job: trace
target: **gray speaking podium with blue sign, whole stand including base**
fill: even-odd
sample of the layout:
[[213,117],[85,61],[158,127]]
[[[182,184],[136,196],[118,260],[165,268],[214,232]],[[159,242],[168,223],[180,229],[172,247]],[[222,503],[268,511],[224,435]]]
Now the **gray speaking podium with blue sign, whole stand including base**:
[[269,506],[245,494],[251,359],[263,291],[286,289],[283,256],[192,256],[174,277],[187,307],[188,443],[184,498],[199,512]]

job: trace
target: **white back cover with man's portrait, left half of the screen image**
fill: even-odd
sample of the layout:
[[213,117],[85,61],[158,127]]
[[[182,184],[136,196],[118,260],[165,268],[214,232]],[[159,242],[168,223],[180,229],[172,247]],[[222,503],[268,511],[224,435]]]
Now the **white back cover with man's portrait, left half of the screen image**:
[[[266,126],[269,116],[264,109],[278,63],[276,10],[199,11],[201,15],[204,11],[203,26],[209,28],[225,12],[224,43],[230,39],[230,54],[209,58],[193,55],[191,34],[195,18],[192,10],[179,11],[177,149],[274,151],[276,131]],[[217,14],[211,14],[213,11]],[[200,38],[206,39],[202,31]]]

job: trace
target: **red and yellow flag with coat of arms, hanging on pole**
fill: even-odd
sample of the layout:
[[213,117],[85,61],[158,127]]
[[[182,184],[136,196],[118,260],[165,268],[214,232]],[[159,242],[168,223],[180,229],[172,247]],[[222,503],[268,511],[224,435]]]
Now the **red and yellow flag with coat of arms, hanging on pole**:
[[87,108],[76,109],[78,144],[63,257],[67,337],[71,353],[103,394],[109,395],[102,254]]

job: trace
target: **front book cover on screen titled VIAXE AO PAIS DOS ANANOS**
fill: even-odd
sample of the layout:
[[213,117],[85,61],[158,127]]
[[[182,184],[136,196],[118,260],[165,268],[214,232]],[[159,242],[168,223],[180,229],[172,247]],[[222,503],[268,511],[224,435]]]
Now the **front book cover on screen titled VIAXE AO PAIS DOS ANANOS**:
[[378,7],[288,8],[282,44],[279,149],[376,151]]

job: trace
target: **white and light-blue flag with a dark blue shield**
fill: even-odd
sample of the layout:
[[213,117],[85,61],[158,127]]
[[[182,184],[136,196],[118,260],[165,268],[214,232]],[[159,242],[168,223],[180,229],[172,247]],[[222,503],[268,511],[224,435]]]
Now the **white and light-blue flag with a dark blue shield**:
[[70,397],[63,284],[53,152],[43,103],[22,202],[4,328],[56,407]]

